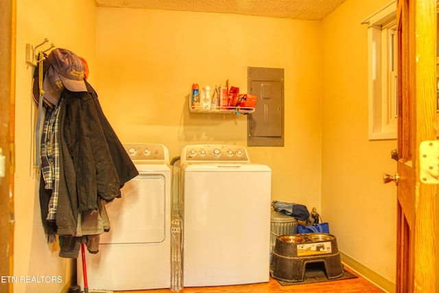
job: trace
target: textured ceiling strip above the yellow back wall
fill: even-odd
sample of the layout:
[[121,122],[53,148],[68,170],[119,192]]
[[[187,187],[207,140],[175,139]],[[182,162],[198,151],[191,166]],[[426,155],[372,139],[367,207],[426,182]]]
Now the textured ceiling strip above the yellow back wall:
[[219,12],[319,21],[346,0],[95,0],[97,6]]

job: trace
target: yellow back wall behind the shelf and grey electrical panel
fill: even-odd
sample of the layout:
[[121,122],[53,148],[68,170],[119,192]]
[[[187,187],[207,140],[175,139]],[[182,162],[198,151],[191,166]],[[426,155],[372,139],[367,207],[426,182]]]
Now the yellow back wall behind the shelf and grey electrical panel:
[[[285,148],[249,148],[272,197],[320,208],[320,23],[200,12],[97,10],[97,84],[121,141],[246,145],[247,117],[189,113],[192,83],[247,92],[247,67],[285,69]],[[96,73],[91,73],[96,74]]]

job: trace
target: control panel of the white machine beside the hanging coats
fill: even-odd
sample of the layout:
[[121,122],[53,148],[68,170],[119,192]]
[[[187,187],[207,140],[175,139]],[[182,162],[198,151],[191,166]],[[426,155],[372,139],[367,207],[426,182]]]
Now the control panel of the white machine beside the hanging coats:
[[169,163],[169,153],[165,145],[158,143],[124,143],[123,148],[132,161],[151,161],[150,163]]

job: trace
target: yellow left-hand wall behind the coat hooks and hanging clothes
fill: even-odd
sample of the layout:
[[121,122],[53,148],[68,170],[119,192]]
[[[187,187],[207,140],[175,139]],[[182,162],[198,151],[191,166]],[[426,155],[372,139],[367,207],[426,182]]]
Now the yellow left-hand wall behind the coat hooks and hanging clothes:
[[60,276],[62,282],[18,279],[14,292],[66,292],[71,281],[71,261],[58,257],[58,243],[47,244],[40,220],[39,177],[34,172],[36,106],[31,96],[34,67],[26,65],[25,47],[26,43],[38,45],[48,38],[49,43],[42,49],[54,43],[86,56],[95,67],[96,7],[91,0],[21,0],[17,1],[16,13],[14,276]]

